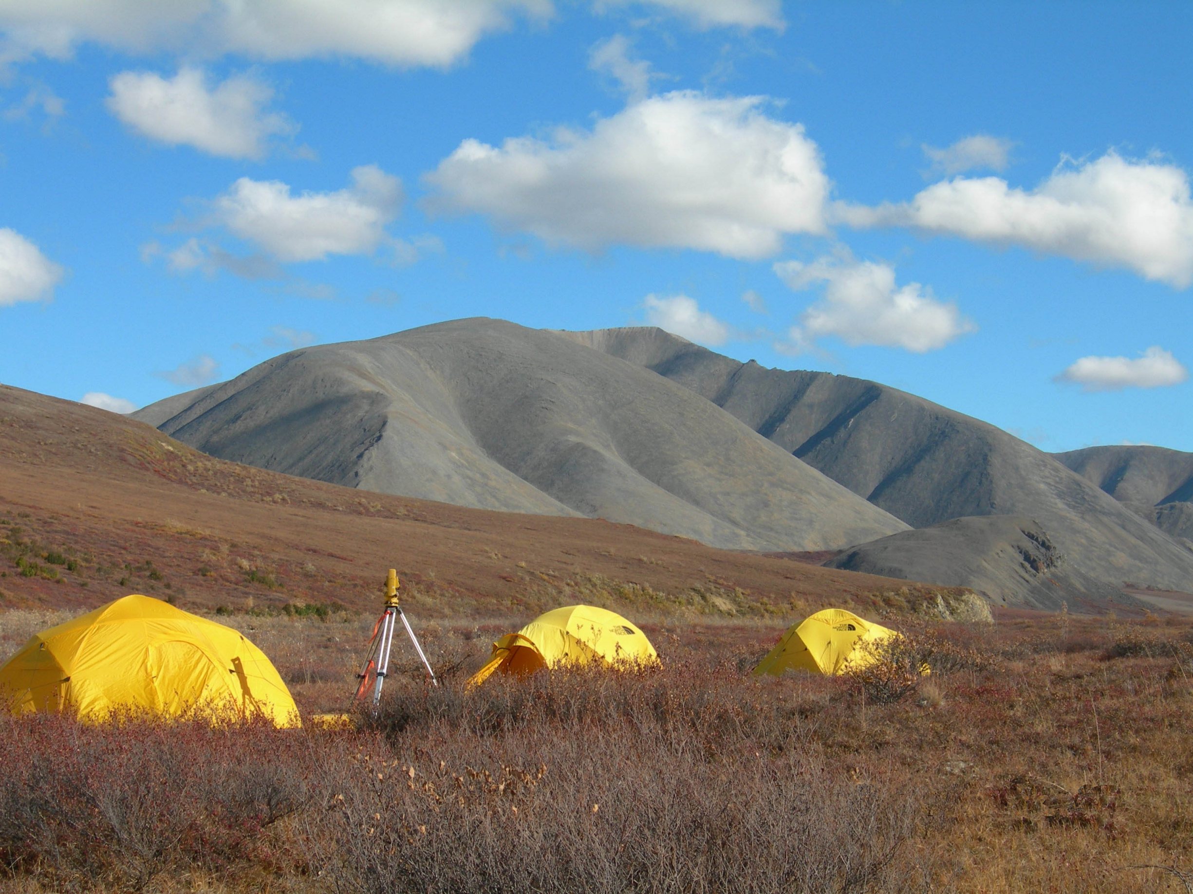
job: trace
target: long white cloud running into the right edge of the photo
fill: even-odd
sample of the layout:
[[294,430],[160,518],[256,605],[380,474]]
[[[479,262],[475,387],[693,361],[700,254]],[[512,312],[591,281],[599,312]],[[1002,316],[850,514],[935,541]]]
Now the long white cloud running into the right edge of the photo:
[[839,205],[835,211],[853,226],[916,226],[1126,267],[1179,288],[1193,283],[1188,175],[1156,160],[1132,161],[1112,151],[1062,164],[1031,191],[1000,178],[956,178],[907,204]]

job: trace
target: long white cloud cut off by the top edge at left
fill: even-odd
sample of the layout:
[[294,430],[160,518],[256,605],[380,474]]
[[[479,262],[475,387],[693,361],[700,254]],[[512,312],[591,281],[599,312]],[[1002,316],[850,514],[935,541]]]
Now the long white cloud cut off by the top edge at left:
[[546,18],[551,0],[7,0],[7,55],[69,56],[84,42],[120,50],[326,56],[447,67],[512,15]]

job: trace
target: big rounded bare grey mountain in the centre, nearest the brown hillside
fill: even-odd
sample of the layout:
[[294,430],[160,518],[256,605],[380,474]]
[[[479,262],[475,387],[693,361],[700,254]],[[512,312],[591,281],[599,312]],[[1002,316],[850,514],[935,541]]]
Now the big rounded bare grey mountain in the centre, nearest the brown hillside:
[[262,468],[722,547],[840,548],[907,527],[690,390],[501,321],[293,350],[135,417]]

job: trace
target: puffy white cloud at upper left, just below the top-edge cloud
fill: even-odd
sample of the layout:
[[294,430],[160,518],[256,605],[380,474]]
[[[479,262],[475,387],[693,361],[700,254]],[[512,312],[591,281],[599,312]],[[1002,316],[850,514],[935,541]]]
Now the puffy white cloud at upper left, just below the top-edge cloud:
[[273,89],[248,75],[212,87],[198,68],[183,68],[173,79],[122,72],[109,86],[109,111],[160,143],[191,145],[228,159],[260,159],[271,137],[297,130],[284,114],[265,111]]

